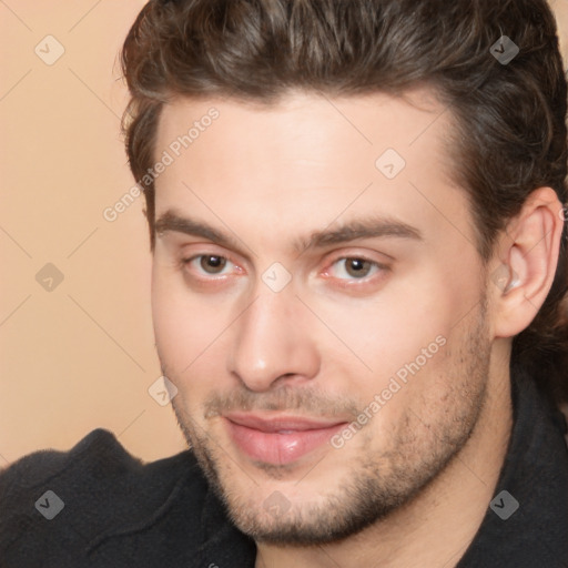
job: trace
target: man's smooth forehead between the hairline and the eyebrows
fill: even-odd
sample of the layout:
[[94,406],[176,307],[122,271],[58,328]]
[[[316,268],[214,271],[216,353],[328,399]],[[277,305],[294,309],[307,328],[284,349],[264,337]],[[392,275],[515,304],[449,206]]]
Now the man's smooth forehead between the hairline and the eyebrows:
[[191,212],[241,230],[254,219],[272,234],[369,212],[460,224],[450,131],[450,112],[428,90],[406,99],[296,92],[272,105],[179,99],[156,133],[155,158],[171,158],[155,182],[156,216]]

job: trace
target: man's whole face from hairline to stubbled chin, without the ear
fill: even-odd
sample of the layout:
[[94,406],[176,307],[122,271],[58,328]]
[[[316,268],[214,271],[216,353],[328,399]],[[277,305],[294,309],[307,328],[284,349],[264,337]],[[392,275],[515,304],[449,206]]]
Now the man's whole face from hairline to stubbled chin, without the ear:
[[[490,351],[483,266],[447,175],[449,113],[434,120],[429,101],[164,108],[158,351],[187,442],[257,540],[362,529],[475,429]],[[212,106],[219,118],[202,120]]]

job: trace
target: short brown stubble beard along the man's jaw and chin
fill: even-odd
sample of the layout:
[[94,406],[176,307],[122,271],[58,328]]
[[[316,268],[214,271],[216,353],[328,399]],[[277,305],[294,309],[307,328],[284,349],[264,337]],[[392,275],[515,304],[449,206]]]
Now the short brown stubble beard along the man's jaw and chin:
[[[469,334],[464,334],[457,352],[447,354],[455,363],[446,373],[446,392],[440,397],[443,400],[438,403],[437,413],[432,415],[426,413],[426,408],[406,408],[399,423],[393,425],[393,442],[388,448],[377,453],[365,450],[373,443],[371,420],[366,426],[368,429],[357,434],[363,436],[365,432],[367,436],[367,443],[358,446],[359,456],[353,453],[345,456],[349,463],[348,471],[335,481],[325,498],[308,503],[291,501],[282,514],[275,515],[263,506],[263,500],[258,499],[260,487],[246,494],[242,484],[239,486],[237,478],[244,476],[243,471],[174,398],[172,406],[180,428],[236,527],[257,542],[325,545],[362,531],[415,499],[465,447],[483,413],[490,365],[485,313],[481,307],[477,322],[470,326]],[[419,381],[420,377],[417,375],[413,379]],[[300,405],[296,400],[293,406]],[[430,418],[426,422],[420,414]],[[328,449],[332,453],[343,450]],[[342,468],[345,460],[341,460]],[[325,459],[316,467],[325,467]],[[264,475],[256,476],[260,484],[266,478],[271,481],[282,477],[290,479],[286,468],[268,466],[258,468],[258,471]],[[314,481],[316,476],[313,474],[306,483],[313,483],[322,494],[322,484]]]

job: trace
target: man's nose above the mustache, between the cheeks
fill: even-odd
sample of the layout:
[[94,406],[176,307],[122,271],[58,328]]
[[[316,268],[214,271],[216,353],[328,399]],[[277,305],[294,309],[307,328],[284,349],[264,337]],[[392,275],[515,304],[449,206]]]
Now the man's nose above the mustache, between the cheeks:
[[300,385],[317,375],[321,361],[310,312],[291,286],[277,293],[260,291],[235,324],[230,372],[251,390]]

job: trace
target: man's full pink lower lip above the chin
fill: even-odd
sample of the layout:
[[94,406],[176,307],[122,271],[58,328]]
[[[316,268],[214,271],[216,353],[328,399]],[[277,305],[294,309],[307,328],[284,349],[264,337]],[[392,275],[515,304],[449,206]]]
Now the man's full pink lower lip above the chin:
[[225,419],[229,433],[237,447],[250,458],[265,464],[285,465],[296,462],[329,438],[345,424],[290,434],[261,432]]

